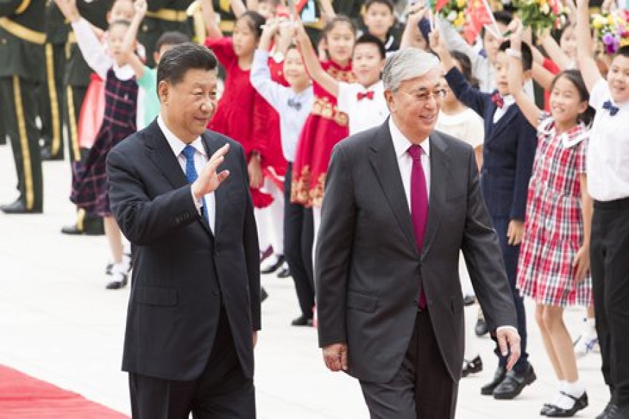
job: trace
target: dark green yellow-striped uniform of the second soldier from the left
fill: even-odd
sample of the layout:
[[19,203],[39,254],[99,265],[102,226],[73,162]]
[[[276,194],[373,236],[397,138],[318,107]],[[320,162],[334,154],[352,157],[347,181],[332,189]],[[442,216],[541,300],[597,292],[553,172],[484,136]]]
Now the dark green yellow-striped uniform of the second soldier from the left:
[[54,1],[46,4],[45,81],[39,94],[41,137],[44,141],[44,160],[63,160],[63,109],[64,71],[68,25]]

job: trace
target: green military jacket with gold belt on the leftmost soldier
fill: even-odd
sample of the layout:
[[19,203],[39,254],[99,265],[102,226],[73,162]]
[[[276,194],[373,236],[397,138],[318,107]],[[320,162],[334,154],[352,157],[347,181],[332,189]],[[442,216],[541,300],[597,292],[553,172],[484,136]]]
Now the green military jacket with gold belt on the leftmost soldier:
[[0,0],[0,78],[45,80],[43,0]]

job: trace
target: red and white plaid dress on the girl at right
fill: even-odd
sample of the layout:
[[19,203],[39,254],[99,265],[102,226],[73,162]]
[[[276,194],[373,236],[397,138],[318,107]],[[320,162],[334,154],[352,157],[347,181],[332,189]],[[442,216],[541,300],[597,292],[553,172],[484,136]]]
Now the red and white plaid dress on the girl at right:
[[546,112],[537,128],[517,286],[537,304],[592,304],[592,279],[577,284],[572,266],[583,244],[581,182],[586,172],[588,133],[582,125],[557,135]]

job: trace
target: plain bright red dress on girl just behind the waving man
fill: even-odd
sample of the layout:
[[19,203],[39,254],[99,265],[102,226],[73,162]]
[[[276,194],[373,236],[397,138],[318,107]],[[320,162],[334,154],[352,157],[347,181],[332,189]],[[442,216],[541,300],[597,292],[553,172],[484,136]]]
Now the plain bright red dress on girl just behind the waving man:
[[[273,108],[258,94],[250,82],[250,70],[238,65],[231,38],[208,38],[205,46],[215,53],[226,71],[225,89],[208,128],[232,138],[245,149],[247,161],[253,150],[260,153],[262,170],[272,169],[278,175],[286,172],[282,154],[280,120]],[[263,208],[273,197],[259,189],[251,189],[254,206]]]

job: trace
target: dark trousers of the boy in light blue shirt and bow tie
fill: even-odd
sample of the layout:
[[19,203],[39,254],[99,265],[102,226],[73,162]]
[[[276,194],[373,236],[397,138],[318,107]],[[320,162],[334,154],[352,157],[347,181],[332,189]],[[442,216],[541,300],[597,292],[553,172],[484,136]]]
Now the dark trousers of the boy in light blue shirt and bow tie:
[[291,203],[291,175],[289,163],[284,177],[284,256],[295,281],[295,291],[302,314],[312,318],[315,305],[315,281],[312,275],[312,210]]

